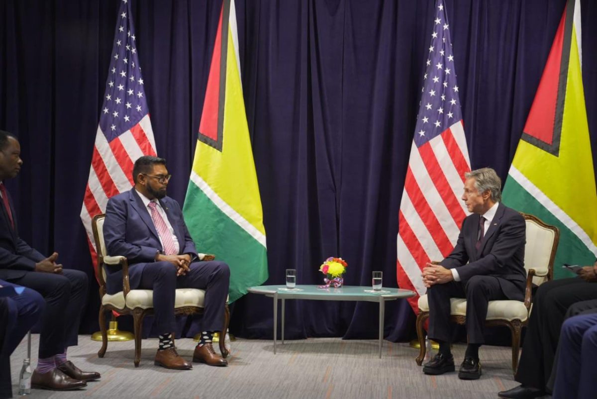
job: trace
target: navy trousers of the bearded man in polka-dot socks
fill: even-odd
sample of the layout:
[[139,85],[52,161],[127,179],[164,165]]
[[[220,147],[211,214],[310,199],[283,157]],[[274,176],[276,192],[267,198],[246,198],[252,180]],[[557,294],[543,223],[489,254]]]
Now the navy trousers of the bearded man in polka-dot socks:
[[230,269],[224,262],[193,262],[184,276],[176,276],[170,262],[147,263],[138,288],[153,290],[153,312],[160,334],[176,331],[174,299],[176,288],[205,290],[205,308],[201,329],[221,331],[224,327],[224,305],[228,296]]

